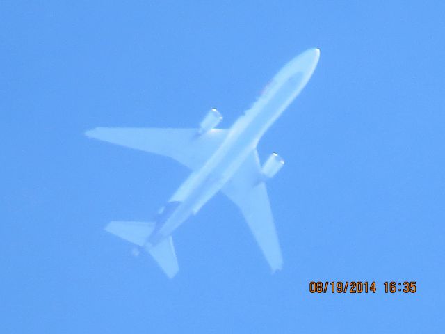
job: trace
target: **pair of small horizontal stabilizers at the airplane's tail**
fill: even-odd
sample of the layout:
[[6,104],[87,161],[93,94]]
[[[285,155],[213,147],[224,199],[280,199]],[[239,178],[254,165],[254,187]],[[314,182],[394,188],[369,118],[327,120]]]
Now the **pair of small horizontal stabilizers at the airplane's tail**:
[[144,247],[168,278],[173,278],[179,271],[179,266],[172,237],[166,237],[154,245],[147,243],[155,225],[153,222],[112,221],[106,225],[105,230],[132,244]]

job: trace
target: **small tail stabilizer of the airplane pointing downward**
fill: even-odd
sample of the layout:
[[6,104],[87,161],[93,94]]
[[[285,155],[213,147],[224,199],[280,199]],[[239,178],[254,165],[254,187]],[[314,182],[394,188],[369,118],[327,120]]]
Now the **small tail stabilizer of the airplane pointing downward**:
[[175,247],[172,236],[160,241],[155,246],[147,246],[147,252],[152,255],[159,267],[165,272],[168,278],[173,278],[179,271],[178,260],[176,258]]

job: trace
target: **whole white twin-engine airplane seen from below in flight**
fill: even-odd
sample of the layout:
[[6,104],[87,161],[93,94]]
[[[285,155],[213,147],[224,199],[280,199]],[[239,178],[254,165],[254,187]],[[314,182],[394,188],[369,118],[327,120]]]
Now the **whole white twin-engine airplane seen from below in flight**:
[[179,270],[172,232],[222,191],[241,209],[272,271],[281,269],[282,254],[265,182],[284,161],[273,153],[261,166],[257,144],[305,87],[319,57],[318,49],[309,49],[293,58],[230,129],[215,128],[223,117],[211,109],[198,129],[97,127],[87,131],[88,137],[162,154],[192,170],[153,221],[112,221],[105,230],[135,244],[135,255],[145,249],[172,278]]

